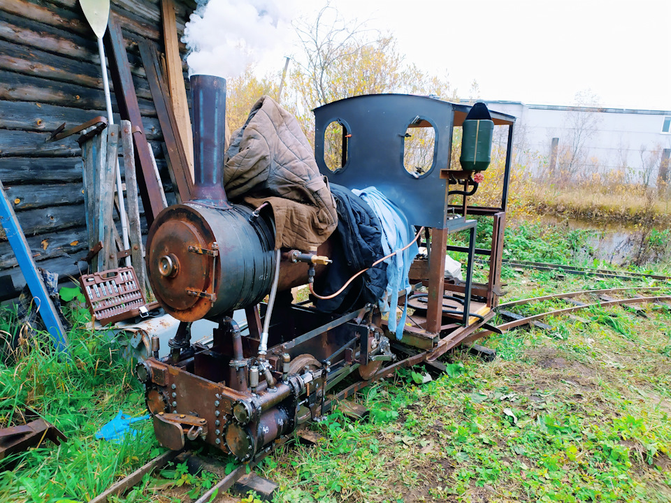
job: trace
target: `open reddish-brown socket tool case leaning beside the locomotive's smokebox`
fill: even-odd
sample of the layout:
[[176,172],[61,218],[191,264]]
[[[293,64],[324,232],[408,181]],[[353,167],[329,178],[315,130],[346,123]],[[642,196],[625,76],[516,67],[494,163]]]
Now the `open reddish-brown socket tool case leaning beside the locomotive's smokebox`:
[[132,266],[82,275],[81,285],[91,314],[103,325],[138,316],[147,303]]

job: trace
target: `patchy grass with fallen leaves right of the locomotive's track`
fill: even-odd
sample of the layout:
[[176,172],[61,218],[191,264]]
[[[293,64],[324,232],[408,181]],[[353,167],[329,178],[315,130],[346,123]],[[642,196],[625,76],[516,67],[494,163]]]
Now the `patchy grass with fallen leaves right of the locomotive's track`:
[[[597,286],[537,272],[509,284],[511,297]],[[368,423],[335,411],[314,427],[324,444],[265,474],[285,502],[669,501],[671,312],[647,312],[493,336],[493,363],[454,353],[452,375],[422,386],[398,372],[357,396]]]

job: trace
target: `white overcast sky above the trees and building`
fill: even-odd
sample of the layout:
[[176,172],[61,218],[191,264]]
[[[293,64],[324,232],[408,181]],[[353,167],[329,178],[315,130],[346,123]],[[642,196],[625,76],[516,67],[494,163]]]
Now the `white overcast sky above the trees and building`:
[[[295,1],[308,18],[325,3]],[[475,79],[482,99],[561,105],[591,89],[605,106],[671,110],[671,0],[331,4],[391,31],[407,61],[447,75],[464,98]]]

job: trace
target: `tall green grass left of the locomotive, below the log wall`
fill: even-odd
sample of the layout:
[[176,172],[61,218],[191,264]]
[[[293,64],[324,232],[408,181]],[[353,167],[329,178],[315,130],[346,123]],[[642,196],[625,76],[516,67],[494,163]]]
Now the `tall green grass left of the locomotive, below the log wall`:
[[[82,328],[85,312],[69,316],[78,326],[68,334],[69,358],[52,351],[47,334],[36,333],[8,357],[13,364],[0,364],[0,426],[22,424],[22,414],[34,411],[68,437],[60,446],[45,441],[3,460],[0,501],[87,501],[159,452],[149,422],[122,444],[95,438],[120,409],[145,414],[144,393],[117,344]],[[10,313],[3,320],[0,328],[15,329]]]

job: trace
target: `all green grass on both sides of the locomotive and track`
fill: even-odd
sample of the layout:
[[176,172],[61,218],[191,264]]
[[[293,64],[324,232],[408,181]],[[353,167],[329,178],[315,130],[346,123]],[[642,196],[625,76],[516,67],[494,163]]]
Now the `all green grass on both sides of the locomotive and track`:
[[[486,232],[482,226],[479,240]],[[583,238],[511,229],[508,256],[576,265]],[[503,279],[505,300],[646,285],[511,268]],[[426,369],[400,371],[355,396],[369,421],[336,409],[311,425],[324,442],[286,446],[260,471],[280,484],[276,502],[668,502],[671,311],[646,305],[645,312],[593,308],[577,312],[584,321],[545,319],[551,332],[494,335],[484,342],[498,351],[493,363],[458,351],[449,355],[449,374],[423,385],[415,382]],[[0,365],[0,425],[21,423],[20,411],[34,409],[68,436],[59,447],[45,442],[3,460],[0,501],[85,502],[160,452],[148,422],[122,444],[95,439],[118,410],[144,414],[143,393],[117,344],[82,328],[80,310],[68,316],[78,327],[71,358],[53,354],[41,334]],[[19,331],[9,312],[0,330]],[[177,465],[117,501],[189,501],[213,480]]]

